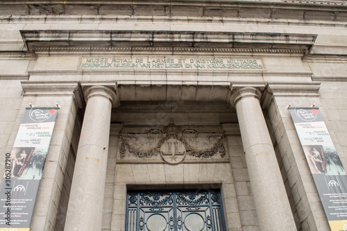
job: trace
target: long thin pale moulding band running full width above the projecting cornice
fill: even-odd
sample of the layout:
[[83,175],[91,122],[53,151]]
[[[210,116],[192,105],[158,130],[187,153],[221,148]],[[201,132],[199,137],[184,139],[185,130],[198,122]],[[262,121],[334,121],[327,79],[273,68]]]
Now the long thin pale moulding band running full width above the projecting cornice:
[[[273,8],[271,8],[272,11]],[[257,9],[259,10],[259,9]],[[304,16],[305,10],[297,10],[286,8],[284,10],[298,11],[300,14],[297,17],[291,18],[281,18],[269,15],[269,17],[228,17],[228,16],[205,16],[205,17],[194,17],[194,16],[148,16],[148,15],[0,15],[0,22],[4,23],[56,23],[56,22],[75,22],[75,23],[94,23],[94,22],[104,22],[104,23],[112,23],[117,22],[118,24],[122,24],[125,22],[134,22],[134,23],[189,23],[189,24],[262,24],[267,25],[271,23],[271,25],[284,25],[288,24],[295,26],[335,26],[335,27],[345,27],[346,22],[344,17],[339,17],[340,15],[344,15],[344,12],[331,12],[332,15],[336,15],[336,19],[323,20],[323,19],[307,19]],[[311,12],[312,13],[312,12]],[[318,12],[317,12],[318,13]],[[312,13],[313,14],[313,13]],[[261,14],[263,15],[263,14]],[[303,20],[305,18],[305,20]]]

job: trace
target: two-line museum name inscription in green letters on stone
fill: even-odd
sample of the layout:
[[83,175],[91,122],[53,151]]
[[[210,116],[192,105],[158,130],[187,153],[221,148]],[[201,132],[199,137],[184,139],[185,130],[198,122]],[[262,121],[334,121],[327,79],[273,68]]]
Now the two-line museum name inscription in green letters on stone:
[[187,56],[105,56],[83,57],[81,69],[203,69],[203,70],[260,70],[260,58],[187,57]]

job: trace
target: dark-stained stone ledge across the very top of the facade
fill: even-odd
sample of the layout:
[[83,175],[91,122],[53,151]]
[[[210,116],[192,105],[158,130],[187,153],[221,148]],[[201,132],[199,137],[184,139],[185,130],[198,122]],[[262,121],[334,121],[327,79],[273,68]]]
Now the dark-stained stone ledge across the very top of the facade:
[[[344,21],[343,1],[2,1],[0,15],[163,15],[196,17],[253,17],[263,19],[315,19]],[[280,12],[278,12],[280,11]],[[312,12],[313,17],[306,17]],[[323,14],[322,14],[323,12]],[[327,14],[328,12],[328,14]],[[343,13],[339,17],[339,13]]]

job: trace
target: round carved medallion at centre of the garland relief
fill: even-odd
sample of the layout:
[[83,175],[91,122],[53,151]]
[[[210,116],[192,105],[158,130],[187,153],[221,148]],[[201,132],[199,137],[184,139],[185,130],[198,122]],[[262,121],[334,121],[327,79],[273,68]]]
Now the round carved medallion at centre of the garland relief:
[[167,139],[160,146],[160,155],[162,159],[170,164],[178,164],[185,159],[185,145],[176,138]]

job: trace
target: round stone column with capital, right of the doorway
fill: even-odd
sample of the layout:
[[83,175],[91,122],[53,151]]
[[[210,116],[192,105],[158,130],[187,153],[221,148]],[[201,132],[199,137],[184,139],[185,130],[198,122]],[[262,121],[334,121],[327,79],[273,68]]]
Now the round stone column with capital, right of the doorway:
[[260,91],[254,87],[235,89],[230,102],[237,111],[261,230],[296,230],[269,130],[260,107]]

